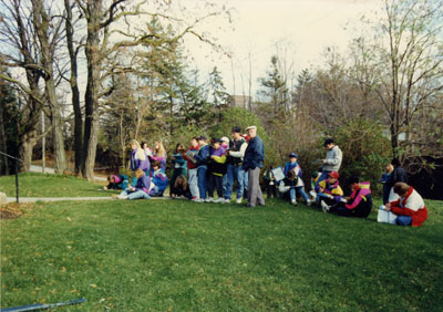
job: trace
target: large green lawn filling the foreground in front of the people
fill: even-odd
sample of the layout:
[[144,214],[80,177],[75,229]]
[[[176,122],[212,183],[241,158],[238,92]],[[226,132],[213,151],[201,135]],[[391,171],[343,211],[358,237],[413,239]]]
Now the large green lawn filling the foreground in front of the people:
[[70,311],[442,311],[443,202],[421,228],[184,200],[38,204],[1,221],[1,305]]

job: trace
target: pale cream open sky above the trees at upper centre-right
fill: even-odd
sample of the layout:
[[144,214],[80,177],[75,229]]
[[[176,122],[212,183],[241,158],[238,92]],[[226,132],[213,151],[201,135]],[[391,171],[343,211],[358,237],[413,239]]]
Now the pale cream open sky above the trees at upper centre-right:
[[250,55],[253,96],[259,87],[258,77],[266,76],[270,69],[272,55],[278,54],[292,64],[296,73],[317,65],[326,48],[347,48],[354,31],[348,23],[371,14],[382,4],[381,0],[227,0],[225,3],[231,8],[233,22],[213,20],[204,27],[231,58],[195,39],[188,38],[186,46],[202,76],[217,66],[227,92],[237,95],[248,94]]

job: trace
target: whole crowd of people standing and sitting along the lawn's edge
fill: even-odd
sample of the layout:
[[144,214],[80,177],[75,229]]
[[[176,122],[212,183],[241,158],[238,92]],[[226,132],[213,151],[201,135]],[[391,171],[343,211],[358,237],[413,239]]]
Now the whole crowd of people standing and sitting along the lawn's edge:
[[[164,196],[169,186],[172,198],[186,198],[195,202],[230,202],[236,186],[235,202],[247,200],[247,207],[265,206],[260,187],[260,169],[265,160],[265,146],[257,127],[233,127],[231,138],[193,137],[188,148],[179,143],[171,156],[174,167],[171,179],[166,176],[166,150],[162,142],[151,149],[145,142],[132,141],[131,169],[133,179],[125,175],[109,176],[107,189],[122,189],[115,198],[148,199]],[[297,206],[301,197],[308,206],[316,204],[324,212],[344,217],[365,218],[372,210],[371,185],[357,176],[348,180],[351,194],[344,196],[340,187],[342,152],[332,138],[323,144],[327,149],[321,167],[311,175],[311,190],[305,189],[298,155],[290,153],[284,166],[270,166],[262,174],[267,197],[281,197]],[[406,184],[406,171],[394,158],[387,165],[380,183],[383,184],[383,209],[394,212],[398,225],[420,226],[427,217],[421,196]]]

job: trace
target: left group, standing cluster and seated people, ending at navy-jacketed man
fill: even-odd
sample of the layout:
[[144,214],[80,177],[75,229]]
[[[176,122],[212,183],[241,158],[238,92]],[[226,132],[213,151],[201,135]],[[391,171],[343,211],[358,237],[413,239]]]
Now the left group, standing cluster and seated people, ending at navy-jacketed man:
[[[163,196],[169,185],[169,196],[188,198],[196,202],[230,202],[236,183],[236,202],[247,199],[248,207],[264,206],[259,174],[265,160],[265,146],[257,127],[233,127],[231,139],[193,137],[186,149],[177,144],[171,157],[174,166],[171,180],[166,176],[166,153],[163,144],[155,143],[152,150],[145,143],[131,143],[133,180],[124,175],[111,175],[105,188],[121,188],[119,199]],[[217,197],[215,197],[215,193]]]

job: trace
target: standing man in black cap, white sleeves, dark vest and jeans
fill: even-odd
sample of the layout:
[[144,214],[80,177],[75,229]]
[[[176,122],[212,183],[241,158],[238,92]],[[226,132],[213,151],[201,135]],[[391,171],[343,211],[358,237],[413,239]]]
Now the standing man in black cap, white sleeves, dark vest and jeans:
[[243,168],[243,159],[245,156],[246,147],[248,146],[246,139],[241,136],[241,128],[239,126],[233,127],[233,139],[229,141],[229,149],[227,157],[227,171],[226,171],[226,190],[225,201],[230,201],[233,195],[234,181],[237,181],[237,204],[241,202],[244,191],[248,187],[248,175]]

